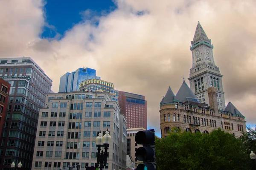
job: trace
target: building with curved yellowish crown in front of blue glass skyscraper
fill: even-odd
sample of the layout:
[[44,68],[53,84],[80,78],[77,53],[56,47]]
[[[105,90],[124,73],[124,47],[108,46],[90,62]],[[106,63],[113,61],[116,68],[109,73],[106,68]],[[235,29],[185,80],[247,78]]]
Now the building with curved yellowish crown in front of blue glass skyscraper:
[[107,92],[112,100],[118,101],[118,91],[114,89],[112,82],[101,79],[87,79],[79,84],[80,91]]

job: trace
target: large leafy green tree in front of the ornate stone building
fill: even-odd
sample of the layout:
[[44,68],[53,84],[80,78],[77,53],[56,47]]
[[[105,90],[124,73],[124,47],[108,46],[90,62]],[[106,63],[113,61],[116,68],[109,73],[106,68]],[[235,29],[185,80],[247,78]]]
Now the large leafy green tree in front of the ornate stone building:
[[241,139],[220,128],[209,134],[169,133],[156,139],[156,157],[158,170],[245,170],[250,164]]

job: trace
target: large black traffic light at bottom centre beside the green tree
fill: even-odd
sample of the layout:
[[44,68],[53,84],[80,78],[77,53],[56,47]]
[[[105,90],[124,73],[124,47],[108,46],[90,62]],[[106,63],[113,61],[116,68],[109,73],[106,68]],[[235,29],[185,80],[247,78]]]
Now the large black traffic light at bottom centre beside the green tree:
[[137,160],[143,161],[143,164],[139,164],[136,170],[156,170],[154,129],[137,132],[135,142],[143,145],[135,153]]

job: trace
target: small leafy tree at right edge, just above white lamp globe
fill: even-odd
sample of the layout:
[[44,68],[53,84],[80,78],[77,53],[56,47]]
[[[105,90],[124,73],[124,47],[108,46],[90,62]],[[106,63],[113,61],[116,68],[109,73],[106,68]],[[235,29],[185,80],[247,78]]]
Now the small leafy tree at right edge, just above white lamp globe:
[[244,142],[247,154],[250,154],[251,150],[256,153],[256,126],[254,128],[248,126],[247,131],[243,133],[240,139]]

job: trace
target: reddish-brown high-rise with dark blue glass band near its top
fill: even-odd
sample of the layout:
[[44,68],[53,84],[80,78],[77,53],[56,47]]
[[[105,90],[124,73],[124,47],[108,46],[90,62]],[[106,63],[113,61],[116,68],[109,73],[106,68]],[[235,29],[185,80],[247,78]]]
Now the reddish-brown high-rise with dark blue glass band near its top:
[[143,127],[147,129],[147,101],[145,96],[119,91],[121,113],[127,119],[127,128]]

